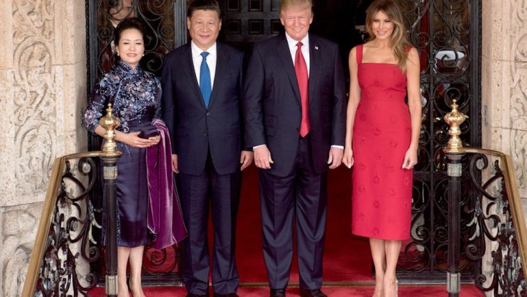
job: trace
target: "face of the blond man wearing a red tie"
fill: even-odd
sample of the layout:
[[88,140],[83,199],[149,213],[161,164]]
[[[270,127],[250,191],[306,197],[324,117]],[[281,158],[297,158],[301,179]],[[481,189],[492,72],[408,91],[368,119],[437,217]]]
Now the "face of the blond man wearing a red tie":
[[280,13],[280,22],[294,40],[300,41],[307,35],[313,22],[313,13],[309,7],[286,7]]

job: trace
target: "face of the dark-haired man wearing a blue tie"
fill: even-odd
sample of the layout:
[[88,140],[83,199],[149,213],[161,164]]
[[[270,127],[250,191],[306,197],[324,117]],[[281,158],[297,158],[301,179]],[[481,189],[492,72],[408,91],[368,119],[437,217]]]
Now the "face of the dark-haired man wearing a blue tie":
[[191,17],[186,18],[186,26],[195,45],[206,50],[218,39],[221,19],[214,10],[195,10]]

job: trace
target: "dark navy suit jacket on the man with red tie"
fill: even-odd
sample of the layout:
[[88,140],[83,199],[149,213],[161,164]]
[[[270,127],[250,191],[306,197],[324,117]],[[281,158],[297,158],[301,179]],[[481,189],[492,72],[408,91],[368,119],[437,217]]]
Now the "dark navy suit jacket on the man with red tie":
[[[282,33],[257,42],[245,74],[245,145],[267,145],[270,173],[293,170],[300,141],[302,109],[295,67]],[[327,170],[331,145],[346,138],[346,86],[339,47],[309,34],[309,121],[316,172]]]

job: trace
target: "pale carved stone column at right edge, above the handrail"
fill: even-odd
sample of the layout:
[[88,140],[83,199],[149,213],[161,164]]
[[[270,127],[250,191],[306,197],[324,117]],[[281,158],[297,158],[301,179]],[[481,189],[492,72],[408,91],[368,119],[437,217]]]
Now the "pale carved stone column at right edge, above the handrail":
[[527,2],[482,3],[483,147],[514,159],[527,214]]

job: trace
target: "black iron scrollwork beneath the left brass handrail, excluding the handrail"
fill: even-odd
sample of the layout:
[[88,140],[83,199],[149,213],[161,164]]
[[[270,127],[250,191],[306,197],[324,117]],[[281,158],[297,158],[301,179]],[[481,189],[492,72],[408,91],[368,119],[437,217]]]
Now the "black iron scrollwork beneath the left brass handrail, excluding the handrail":
[[90,157],[65,161],[35,296],[87,296],[97,284],[88,265],[101,255],[97,246],[90,246],[92,229],[101,227],[88,198],[98,181],[97,168]]

